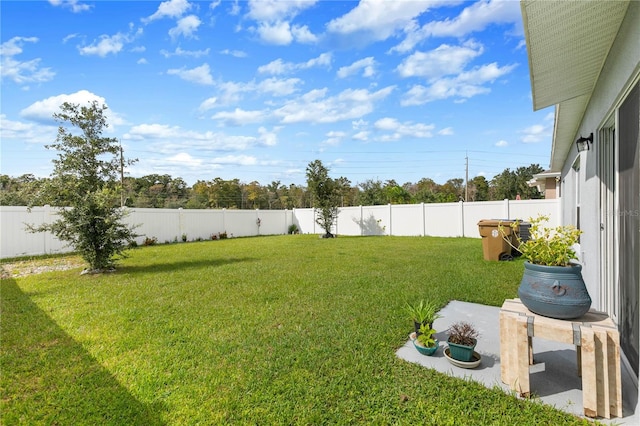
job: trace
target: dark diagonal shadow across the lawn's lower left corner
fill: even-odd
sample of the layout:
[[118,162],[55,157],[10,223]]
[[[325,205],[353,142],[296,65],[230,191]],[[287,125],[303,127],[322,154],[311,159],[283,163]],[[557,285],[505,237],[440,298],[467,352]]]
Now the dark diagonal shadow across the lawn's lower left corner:
[[1,424],[164,424],[163,403],[137,400],[15,280],[0,296]]

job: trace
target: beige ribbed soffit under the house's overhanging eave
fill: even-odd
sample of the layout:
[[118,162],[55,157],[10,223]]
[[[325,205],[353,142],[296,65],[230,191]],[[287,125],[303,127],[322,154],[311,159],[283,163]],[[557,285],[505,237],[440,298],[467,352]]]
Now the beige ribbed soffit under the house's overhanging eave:
[[520,3],[533,109],[556,105],[551,170],[561,170],[624,19],[628,0]]

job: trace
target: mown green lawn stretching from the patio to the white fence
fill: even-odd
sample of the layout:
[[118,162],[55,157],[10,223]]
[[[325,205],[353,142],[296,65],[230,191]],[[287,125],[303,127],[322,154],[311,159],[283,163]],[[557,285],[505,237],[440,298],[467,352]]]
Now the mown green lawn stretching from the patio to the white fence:
[[407,301],[500,306],[479,239],[313,235],[144,247],[2,280],[3,425],[582,424],[395,355]]

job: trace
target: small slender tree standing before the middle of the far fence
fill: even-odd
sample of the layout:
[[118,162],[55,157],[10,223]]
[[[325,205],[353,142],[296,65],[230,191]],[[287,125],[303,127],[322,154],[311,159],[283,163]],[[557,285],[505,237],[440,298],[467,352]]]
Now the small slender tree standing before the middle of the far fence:
[[313,195],[316,223],[325,230],[325,237],[333,237],[331,228],[338,218],[340,193],[338,184],[329,177],[329,169],[322,161],[315,160],[307,166],[307,187]]

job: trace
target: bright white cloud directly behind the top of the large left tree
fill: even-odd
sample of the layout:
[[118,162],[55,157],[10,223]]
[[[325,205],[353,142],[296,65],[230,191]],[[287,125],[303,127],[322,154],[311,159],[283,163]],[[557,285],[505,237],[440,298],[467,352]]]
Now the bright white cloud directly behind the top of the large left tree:
[[[20,111],[20,116],[36,122],[44,124],[54,124],[56,121],[53,119],[54,113],[60,112],[60,106],[68,102],[70,104],[78,104],[80,106],[88,106],[89,103],[96,101],[98,105],[107,105],[105,99],[87,90],[80,90],[71,94],[64,94],[58,96],[52,96],[41,101],[34,102],[27,108]],[[124,124],[124,120],[115,112],[111,110],[105,111],[104,115],[107,117],[108,129],[113,131],[113,128],[117,125]]]

